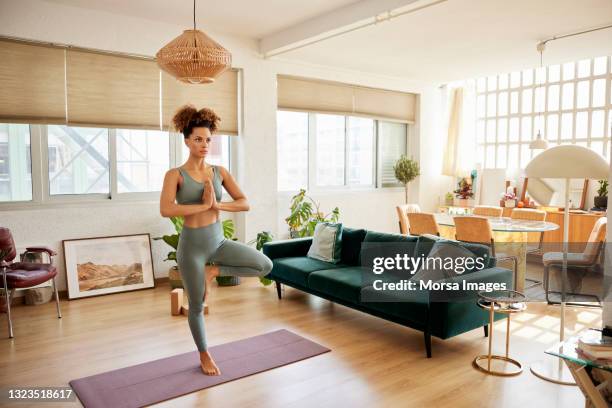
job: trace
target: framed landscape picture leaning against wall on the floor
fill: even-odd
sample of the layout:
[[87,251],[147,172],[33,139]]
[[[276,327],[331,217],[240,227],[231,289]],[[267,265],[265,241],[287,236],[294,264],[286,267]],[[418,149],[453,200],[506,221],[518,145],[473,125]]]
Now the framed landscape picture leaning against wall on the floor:
[[150,234],[62,240],[68,299],[155,288]]

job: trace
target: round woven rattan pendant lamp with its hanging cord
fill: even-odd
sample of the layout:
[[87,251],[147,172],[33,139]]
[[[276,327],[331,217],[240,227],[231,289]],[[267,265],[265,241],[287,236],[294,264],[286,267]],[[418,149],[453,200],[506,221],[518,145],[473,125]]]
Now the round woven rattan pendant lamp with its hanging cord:
[[193,30],[166,44],[157,54],[157,65],[181,82],[209,84],[232,66],[232,54],[215,40],[196,30],[193,0]]

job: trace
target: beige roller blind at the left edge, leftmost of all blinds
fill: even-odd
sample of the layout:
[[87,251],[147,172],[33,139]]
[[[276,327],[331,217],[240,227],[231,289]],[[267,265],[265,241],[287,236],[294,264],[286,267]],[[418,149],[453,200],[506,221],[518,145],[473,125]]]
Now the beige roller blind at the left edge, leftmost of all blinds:
[[65,123],[63,49],[0,40],[0,121]]

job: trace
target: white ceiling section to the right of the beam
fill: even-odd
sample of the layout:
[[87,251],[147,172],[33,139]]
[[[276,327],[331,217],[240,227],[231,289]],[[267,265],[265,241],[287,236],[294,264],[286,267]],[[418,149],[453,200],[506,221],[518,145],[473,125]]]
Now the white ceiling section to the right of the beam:
[[[450,82],[538,66],[539,41],[609,24],[610,0],[448,0],[282,57]],[[549,42],[544,65],[602,55],[612,28]]]

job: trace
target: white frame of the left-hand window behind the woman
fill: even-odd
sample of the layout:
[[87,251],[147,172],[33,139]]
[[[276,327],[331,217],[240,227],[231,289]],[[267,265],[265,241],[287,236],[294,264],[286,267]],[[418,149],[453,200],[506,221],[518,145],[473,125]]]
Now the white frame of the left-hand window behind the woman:
[[[32,165],[32,200],[15,200],[0,202],[0,211],[27,210],[33,208],[60,208],[60,207],[82,207],[87,205],[105,205],[106,203],[119,202],[155,202],[159,200],[159,191],[147,192],[125,192],[119,193],[117,188],[117,129],[108,129],[109,149],[109,193],[90,194],[56,194],[51,195],[49,191],[49,138],[48,126],[46,124],[29,124],[30,129],[30,157]],[[169,165],[175,168],[182,164],[181,144],[183,135],[176,132],[168,132],[169,138]],[[234,151],[236,148],[236,137],[224,135],[229,138],[228,160],[230,171],[234,166]],[[186,158],[185,158],[186,159]],[[227,193],[223,192],[223,197]]]

